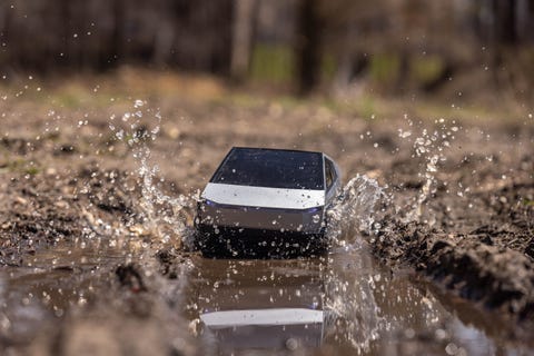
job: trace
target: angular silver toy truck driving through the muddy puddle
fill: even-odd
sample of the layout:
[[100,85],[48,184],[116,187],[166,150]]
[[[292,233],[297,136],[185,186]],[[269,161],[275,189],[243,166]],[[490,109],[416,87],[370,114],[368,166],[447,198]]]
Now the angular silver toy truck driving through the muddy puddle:
[[235,147],[200,195],[196,245],[207,257],[320,255],[339,189],[322,152]]

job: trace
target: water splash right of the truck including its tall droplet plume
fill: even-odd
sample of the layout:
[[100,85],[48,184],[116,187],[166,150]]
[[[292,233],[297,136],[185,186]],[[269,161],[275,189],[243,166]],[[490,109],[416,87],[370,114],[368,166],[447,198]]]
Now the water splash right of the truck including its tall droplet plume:
[[[411,127],[414,122],[408,120]],[[417,135],[409,130],[398,129],[398,137],[412,141],[413,159],[422,161],[417,174],[423,179],[422,188],[407,205],[396,206],[395,195],[380,187],[375,179],[365,175],[356,175],[342,189],[328,214],[328,235],[338,246],[357,247],[357,233],[375,235],[384,229],[386,216],[399,217],[403,222],[421,221],[428,199],[436,194],[438,186],[439,164],[446,160],[445,151],[451,147],[461,127],[455,120],[435,121],[435,129],[422,129]],[[431,226],[433,219],[425,221]]]

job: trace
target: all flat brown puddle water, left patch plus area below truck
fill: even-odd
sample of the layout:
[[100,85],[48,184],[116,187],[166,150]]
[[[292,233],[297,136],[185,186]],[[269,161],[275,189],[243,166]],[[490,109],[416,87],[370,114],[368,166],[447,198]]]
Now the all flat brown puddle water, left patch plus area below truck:
[[[358,239],[357,239],[358,240]],[[76,244],[75,244],[76,245]],[[17,347],[105,295],[131,246],[59,245],[0,269],[2,344]],[[146,254],[145,254],[146,257]],[[411,274],[392,274],[365,245],[325,258],[226,260],[192,256],[174,310],[214,355],[528,355],[497,316],[455,301]],[[147,263],[148,270],[151,263]],[[169,281],[170,283],[170,281]],[[165,289],[165,288],[164,288]],[[164,320],[161,320],[165,323]]]

